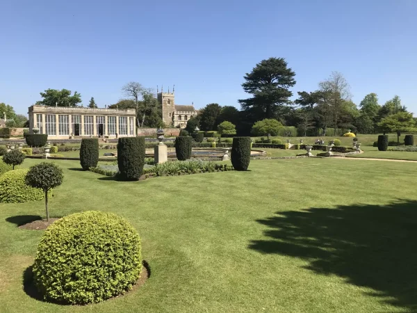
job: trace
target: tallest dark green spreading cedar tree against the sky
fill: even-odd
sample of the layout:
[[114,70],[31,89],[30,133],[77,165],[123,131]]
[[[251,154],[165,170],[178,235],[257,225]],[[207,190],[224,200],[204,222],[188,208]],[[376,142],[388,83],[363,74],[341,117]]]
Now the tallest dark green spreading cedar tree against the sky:
[[295,72],[288,68],[284,58],[268,58],[246,73],[242,84],[246,93],[253,95],[238,102],[243,111],[252,115],[253,120],[276,118],[288,110],[293,93],[289,88],[295,85]]

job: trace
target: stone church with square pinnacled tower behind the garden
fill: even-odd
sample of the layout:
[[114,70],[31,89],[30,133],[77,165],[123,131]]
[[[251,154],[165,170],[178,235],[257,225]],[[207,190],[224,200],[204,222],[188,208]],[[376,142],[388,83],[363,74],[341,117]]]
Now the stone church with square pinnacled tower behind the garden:
[[170,93],[157,92],[158,102],[162,106],[162,120],[165,125],[178,128],[186,128],[187,121],[193,116],[197,116],[198,110],[194,109],[194,105],[175,104],[174,90]]

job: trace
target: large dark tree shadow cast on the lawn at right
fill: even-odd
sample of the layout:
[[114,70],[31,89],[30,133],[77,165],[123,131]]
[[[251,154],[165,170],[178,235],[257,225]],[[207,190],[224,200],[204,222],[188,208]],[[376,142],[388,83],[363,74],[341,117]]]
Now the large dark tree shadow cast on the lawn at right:
[[280,211],[257,222],[269,227],[270,239],[249,248],[306,259],[311,271],[338,275],[375,289],[370,296],[416,310],[417,201]]

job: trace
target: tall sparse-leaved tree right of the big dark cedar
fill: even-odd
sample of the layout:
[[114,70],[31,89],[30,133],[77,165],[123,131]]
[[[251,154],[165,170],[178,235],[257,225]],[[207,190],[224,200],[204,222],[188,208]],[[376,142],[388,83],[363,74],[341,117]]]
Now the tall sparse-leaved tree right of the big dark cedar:
[[350,86],[347,83],[343,74],[339,72],[332,72],[330,77],[325,81],[319,83],[322,93],[329,94],[329,105],[331,106],[333,113],[334,129],[337,129],[337,122],[339,113],[341,112],[341,106],[344,101],[350,100]]

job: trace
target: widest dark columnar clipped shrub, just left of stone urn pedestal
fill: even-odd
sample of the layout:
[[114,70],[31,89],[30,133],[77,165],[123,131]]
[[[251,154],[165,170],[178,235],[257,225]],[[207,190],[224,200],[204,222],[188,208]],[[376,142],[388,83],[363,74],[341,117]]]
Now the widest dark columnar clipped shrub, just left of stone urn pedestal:
[[119,179],[138,180],[145,165],[145,137],[119,138],[117,164]]

